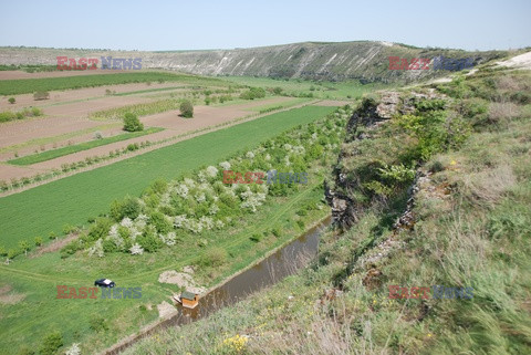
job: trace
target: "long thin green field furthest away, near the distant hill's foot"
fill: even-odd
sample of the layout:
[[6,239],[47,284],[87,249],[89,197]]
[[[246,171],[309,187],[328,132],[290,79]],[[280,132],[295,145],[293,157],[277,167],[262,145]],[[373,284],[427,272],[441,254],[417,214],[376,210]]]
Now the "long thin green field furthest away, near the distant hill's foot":
[[0,95],[29,94],[37,91],[69,90],[145,82],[179,82],[197,85],[228,86],[228,82],[214,77],[200,77],[164,72],[140,72],[118,74],[93,74],[63,77],[42,77],[0,81]]

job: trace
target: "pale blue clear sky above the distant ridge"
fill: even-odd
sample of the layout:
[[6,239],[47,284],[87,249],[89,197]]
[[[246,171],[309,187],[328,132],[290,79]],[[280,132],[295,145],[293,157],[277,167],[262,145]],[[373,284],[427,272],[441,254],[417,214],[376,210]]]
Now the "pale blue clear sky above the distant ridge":
[[531,46],[531,0],[0,0],[0,45],[140,51],[305,41]]

